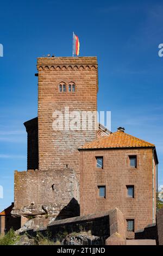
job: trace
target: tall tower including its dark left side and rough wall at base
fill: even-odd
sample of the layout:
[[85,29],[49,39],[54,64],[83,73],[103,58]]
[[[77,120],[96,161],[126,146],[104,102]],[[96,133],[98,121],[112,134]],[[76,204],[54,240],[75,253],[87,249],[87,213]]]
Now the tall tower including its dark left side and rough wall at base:
[[[15,171],[12,215],[48,214],[57,220],[79,216],[83,161],[78,148],[110,133],[95,118],[97,58],[38,58],[37,70],[38,118],[24,123],[27,172]],[[59,113],[64,123],[56,129]]]

